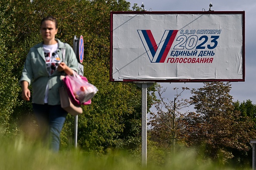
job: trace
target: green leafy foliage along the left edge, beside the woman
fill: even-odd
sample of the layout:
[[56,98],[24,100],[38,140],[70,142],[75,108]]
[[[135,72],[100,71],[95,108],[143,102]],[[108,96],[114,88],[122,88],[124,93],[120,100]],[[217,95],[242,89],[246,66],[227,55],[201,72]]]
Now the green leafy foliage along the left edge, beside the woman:
[[16,9],[10,6],[9,0],[0,2],[0,132],[16,134],[17,130],[10,123],[10,115],[15,106],[19,105],[19,85],[14,73],[17,54],[12,53],[8,46],[15,43],[13,35],[15,25],[12,16]]

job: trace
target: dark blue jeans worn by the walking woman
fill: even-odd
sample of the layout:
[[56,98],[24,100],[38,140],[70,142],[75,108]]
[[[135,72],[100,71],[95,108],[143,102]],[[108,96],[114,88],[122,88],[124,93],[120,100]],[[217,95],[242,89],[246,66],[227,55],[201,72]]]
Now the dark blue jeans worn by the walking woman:
[[41,134],[42,141],[49,144],[50,149],[59,151],[60,132],[68,113],[60,105],[32,104],[34,115]]

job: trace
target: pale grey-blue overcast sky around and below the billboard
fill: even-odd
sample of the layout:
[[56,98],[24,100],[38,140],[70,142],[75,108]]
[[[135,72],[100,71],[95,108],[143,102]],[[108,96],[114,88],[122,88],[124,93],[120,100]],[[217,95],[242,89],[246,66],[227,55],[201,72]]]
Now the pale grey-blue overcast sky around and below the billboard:
[[[127,0],[133,6],[137,3],[141,6],[144,3],[144,9],[147,11],[205,11],[209,10],[209,4],[212,3],[211,10],[214,11],[245,11],[245,82],[231,83],[231,96],[233,101],[252,100],[256,104],[256,58],[253,52],[256,49],[256,0]],[[173,100],[174,92],[172,88],[188,87],[200,88],[203,83],[187,82],[184,83],[160,83],[168,91],[164,97]],[[190,91],[187,91],[182,98],[190,97]]]

